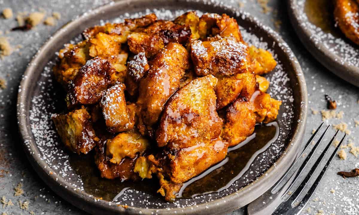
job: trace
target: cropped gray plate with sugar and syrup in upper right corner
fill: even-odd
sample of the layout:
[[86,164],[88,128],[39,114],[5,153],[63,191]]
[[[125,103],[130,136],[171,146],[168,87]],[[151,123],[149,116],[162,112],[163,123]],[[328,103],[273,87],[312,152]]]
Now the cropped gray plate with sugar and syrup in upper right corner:
[[[309,2],[312,2],[311,6]],[[318,8],[312,13],[307,13],[309,7],[316,6]],[[334,27],[330,1],[290,0],[288,10],[293,28],[313,57],[335,75],[359,86],[359,46]],[[321,10],[324,10],[323,14]],[[307,14],[317,14],[321,18]]]

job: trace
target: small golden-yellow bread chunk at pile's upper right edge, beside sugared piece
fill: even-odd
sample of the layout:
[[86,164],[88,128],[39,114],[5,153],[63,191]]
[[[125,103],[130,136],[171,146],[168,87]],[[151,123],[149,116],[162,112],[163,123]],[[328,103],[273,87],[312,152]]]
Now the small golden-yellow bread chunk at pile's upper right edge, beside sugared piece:
[[277,62],[269,51],[254,46],[249,47],[252,62],[250,67],[256,75],[263,75],[274,70]]

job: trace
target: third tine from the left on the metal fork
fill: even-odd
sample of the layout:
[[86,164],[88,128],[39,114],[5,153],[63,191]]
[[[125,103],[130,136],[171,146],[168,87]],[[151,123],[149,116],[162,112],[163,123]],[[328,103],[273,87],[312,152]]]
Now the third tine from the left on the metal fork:
[[[331,141],[329,142],[329,144],[325,147],[324,151],[320,154],[320,156],[318,157],[317,161],[314,163],[313,167],[311,168],[311,170],[309,171],[309,173],[307,174],[307,176],[304,178],[304,180],[300,183],[300,185],[295,189],[295,191],[293,192],[292,196],[290,196],[289,201],[292,201],[292,204],[297,201],[299,195],[303,192],[304,187],[307,185],[307,183],[309,182],[309,180],[311,179],[313,173],[316,171],[316,169],[318,168],[319,164],[321,163],[323,157],[325,156],[325,154],[327,153],[329,147],[331,146],[332,142],[334,141],[337,133],[339,132],[339,130],[335,133],[334,137],[331,139]],[[345,138],[345,135],[344,135]],[[343,141],[344,139],[342,139],[341,141]],[[337,147],[338,148],[338,147]],[[333,156],[334,157],[334,156]],[[326,169],[327,167],[325,167]]]

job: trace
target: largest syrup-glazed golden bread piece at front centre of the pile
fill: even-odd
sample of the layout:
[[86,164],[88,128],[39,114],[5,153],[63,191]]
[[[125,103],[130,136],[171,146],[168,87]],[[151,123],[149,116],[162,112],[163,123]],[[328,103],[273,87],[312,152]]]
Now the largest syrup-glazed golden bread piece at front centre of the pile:
[[[215,107],[216,83],[212,75],[191,81],[171,97],[163,110],[156,140],[164,149],[157,159],[163,169],[160,174],[175,187],[227,154],[228,143],[219,137],[223,121]],[[165,191],[166,200],[173,201],[172,195]]]

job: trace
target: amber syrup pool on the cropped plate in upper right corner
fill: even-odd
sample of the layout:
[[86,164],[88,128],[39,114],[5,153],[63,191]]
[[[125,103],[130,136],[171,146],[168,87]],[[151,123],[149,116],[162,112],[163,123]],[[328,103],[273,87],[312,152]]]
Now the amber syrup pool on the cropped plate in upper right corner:
[[334,5],[331,0],[306,0],[304,4],[304,12],[309,22],[321,28],[323,32],[339,37],[338,30],[335,28],[333,11]]

